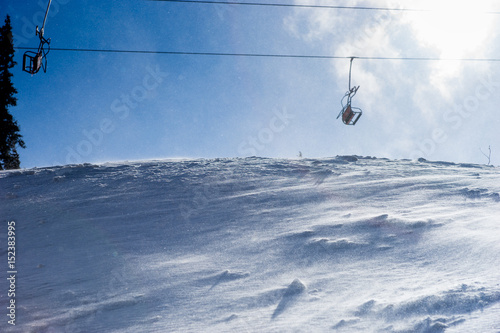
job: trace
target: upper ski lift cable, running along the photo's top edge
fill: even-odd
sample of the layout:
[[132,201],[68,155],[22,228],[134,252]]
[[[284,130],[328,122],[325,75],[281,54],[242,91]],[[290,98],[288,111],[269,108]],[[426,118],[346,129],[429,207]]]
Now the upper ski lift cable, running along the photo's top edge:
[[[241,2],[241,1],[213,1],[213,0],[148,0],[157,2],[190,3],[190,4],[219,4],[238,6],[267,6],[267,7],[295,7],[295,8],[318,8],[318,9],[349,9],[349,10],[374,10],[392,12],[421,12],[432,13],[435,9],[428,8],[396,8],[396,7],[368,7],[368,6],[341,6],[341,5],[308,5],[308,4],[286,4],[286,3],[263,3],[263,2]],[[450,8],[453,11],[452,8]],[[478,11],[483,14],[500,15],[500,11]]]

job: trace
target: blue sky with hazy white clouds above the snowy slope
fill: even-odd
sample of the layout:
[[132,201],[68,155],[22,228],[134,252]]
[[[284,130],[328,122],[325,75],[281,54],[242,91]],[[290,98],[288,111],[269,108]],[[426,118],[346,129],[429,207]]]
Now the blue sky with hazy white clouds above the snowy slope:
[[[21,167],[299,152],[486,164],[489,147],[500,164],[500,61],[408,59],[500,59],[498,2],[272,3],[430,11],[53,0],[52,48],[339,58],[51,50],[32,76],[17,49]],[[47,4],[1,2],[16,47],[38,46]],[[356,126],[336,119],[351,56]]]

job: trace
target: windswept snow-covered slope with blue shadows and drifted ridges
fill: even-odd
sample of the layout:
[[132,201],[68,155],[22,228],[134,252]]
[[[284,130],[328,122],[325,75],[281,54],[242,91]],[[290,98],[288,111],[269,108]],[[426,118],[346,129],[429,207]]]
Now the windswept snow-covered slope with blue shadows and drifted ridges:
[[145,161],[0,184],[2,332],[500,332],[495,167]]

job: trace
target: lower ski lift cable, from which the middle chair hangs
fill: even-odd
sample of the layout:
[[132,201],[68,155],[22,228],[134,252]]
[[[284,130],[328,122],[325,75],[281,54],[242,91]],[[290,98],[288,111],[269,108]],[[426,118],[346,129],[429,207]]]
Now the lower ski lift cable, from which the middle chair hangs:
[[[14,47],[17,50],[36,50],[32,47]],[[84,48],[55,48],[51,51],[62,52],[98,52],[130,54],[163,54],[187,56],[223,56],[223,57],[258,57],[258,58],[299,58],[299,59],[360,59],[360,60],[399,60],[399,61],[459,61],[459,62],[500,62],[500,58],[439,58],[439,57],[383,57],[383,56],[334,56],[314,54],[270,54],[270,53],[225,53],[225,52],[190,52],[190,51],[152,51],[152,50],[111,50]]]

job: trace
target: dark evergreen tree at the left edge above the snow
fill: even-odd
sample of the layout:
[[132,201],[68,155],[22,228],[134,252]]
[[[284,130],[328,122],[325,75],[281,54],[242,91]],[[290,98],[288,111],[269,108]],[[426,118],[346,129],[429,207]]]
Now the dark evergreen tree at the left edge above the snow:
[[16,106],[17,90],[11,82],[14,67],[14,42],[10,17],[7,15],[5,25],[0,27],[0,170],[19,169],[21,162],[17,147],[26,148],[19,126],[9,113],[9,106]]

